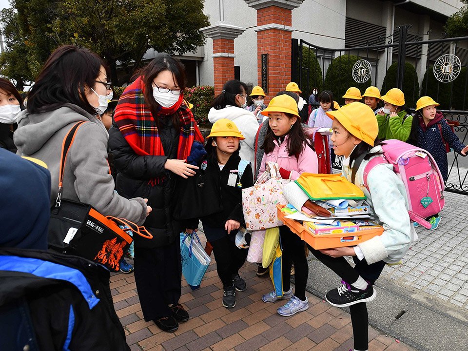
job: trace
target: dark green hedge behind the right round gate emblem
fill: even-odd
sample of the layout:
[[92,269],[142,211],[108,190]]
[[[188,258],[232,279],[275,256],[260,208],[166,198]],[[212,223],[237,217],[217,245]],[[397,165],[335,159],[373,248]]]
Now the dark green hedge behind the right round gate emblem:
[[[466,110],[468,109],[467,74],[467,68],[463,67],[455,80],[450,83],[441,83],[434,77],[433,67],[430,66],[424,74],[423,83],[421,85],[421,96],[427,95],[436,100],[440,104],[437,108],[441,110]],[[464,106],[463,94],[465,93],[465,89],[467,91]],[[452,96],[451,106],[450,95]]]

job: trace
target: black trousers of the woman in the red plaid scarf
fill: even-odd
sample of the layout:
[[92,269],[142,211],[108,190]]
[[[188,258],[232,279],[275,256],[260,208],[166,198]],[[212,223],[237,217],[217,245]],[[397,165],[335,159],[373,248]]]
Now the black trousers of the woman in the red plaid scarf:
[[145,321],[172,316],[168,305],[178,303],[182,262],[179,240],[162,247],[135,246],[135,282]]

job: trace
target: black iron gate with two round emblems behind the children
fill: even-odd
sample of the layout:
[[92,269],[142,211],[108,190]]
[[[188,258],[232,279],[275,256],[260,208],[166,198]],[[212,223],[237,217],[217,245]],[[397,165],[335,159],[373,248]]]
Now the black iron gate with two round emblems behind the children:
[[[423,40],[410,25],[397,27],[393,35],[379,37],[366,46],[342,49],[320,47],[292,39],[292,80],[309,98],[316,89],[331,90],[334,99],[346,89],[363,92],[377,86],[382,94],[397,87],[405,93],[407,111],[414,111],[419,97],[429,95],[440,103],[460,140],[468,142],[468,37]],[[341,168],[337,157],[335,168]],[[468,195],[468,157],[448,154],[447,190]]]

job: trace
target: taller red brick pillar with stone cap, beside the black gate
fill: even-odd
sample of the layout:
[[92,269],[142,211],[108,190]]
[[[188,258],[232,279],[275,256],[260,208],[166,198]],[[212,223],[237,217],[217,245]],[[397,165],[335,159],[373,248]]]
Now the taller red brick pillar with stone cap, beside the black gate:
[[292,9],[304,0],[245,0],[257,10],[258,84],[262,84],[262,54],[268,54],[269,99],[291,81]]

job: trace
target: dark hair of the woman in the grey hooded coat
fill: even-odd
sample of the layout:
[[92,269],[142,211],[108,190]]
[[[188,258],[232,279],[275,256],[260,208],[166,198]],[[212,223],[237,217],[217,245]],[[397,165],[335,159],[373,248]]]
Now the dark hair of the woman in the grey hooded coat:
[[69,102],[97,115],[86,98],[85,87],[95,87],[101,66],[109,77],[109,68],[95,53],[74,45],[60,46],[47,59],[28,94],[28,112],[38,113],[45,106]]

